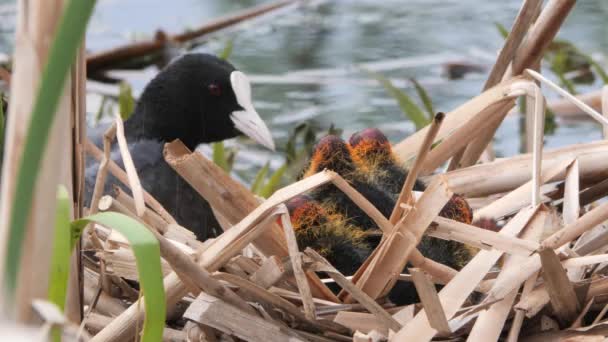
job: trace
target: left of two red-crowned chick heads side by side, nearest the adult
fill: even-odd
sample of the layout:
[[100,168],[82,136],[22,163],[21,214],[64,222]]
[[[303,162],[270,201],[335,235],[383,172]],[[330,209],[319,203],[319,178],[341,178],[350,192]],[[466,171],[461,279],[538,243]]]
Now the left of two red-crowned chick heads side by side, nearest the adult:
[[343,177],[355,171],[348,145],[340,137],[328,135],[315,145],[305,177],[329,169]]

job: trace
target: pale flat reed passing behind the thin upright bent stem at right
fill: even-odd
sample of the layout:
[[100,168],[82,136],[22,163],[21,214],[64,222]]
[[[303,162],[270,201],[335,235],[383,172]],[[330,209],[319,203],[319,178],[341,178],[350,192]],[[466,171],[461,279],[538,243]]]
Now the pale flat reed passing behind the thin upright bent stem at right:
[[[574,163],[572,159],[563,159],[557,161],[551,167],[545,168],[539,178],[539,183],[562,180],[557,178],[557,175],[564,174],[564,171]],[[532,204],[530,195],[532,194],[532,181],[520,185],[517,189],[509,192],[500,199],[490,203],[489,205],[480,208],[474,212],[474,220],[480,218],[499,219],[505,215],[514,213],[515,211]]]

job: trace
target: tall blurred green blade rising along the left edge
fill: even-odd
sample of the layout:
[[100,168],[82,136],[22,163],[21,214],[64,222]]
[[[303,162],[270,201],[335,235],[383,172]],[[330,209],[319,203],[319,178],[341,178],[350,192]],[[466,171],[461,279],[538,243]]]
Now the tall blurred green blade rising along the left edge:
[[[49,131],[55,118],[57,104],[70,67],[93,12],[95,0],[69,1],[60,19],[57,33],[49,50],[33,104],[31,121],[25,137],[19,163],[13,203],[10,212],[10,231],[5,259],[4,290],[6,298],[14,298],[23,239],[31,213],[32,196],[42,154],[47,146]],[[12,305],[12,303],[9,303]]]

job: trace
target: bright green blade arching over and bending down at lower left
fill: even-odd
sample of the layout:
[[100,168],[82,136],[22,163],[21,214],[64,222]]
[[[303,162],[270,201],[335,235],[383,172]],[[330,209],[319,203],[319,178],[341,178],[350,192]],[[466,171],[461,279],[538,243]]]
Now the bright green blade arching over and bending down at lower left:
[[141,340],[162,341],[166,305],[158,241],[145,226],[131,217],[120,213],[104,212],[72,222],[72,245],[75,243],[76,235],[80,235],[84,227],[92,222],[111,227],[129,240],[135,254],[139,286],[144,294],[146,314]]

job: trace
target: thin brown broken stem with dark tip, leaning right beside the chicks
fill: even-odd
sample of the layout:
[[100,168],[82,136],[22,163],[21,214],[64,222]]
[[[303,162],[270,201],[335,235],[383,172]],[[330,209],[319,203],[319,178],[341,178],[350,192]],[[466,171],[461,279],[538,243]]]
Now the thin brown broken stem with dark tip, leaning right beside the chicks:
[[422,169],[422,165],[426,158],[426,155],[431,150],[433,146],[433,141],[435,141],[435,137],[439,132],[439,128],[441,128],[441,123],[443,122],[443,118],[445,118],[445,114],[439,112],[435,114],[433,118],[433,122],[431,122],[431,126],[429,127],[424,140],[420,144],[420,149],[418,150],[418,154],[416,155],[416,160],[414,161],[414,165],[410,168],[407,177],[405,179],[405,183],[403,183],[403,187],[401,188],[401,193],[399,193],[399,198],[397,202],[395,202],[395,207],[391,212],[391,217],[389,219],[391,224],[397,223],[401,216],[403,215],[403,208],[401,207],[401,203],[409,203],[410,198],[412,196],[412,189],[414,189],[414,184],[416,183],[416,179],[418,178],[418,173]]

